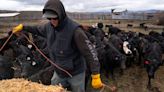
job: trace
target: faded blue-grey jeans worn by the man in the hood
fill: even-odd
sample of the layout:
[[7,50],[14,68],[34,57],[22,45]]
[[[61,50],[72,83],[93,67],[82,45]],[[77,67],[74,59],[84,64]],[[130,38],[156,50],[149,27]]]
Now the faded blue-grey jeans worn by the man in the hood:
[[53,77],[51,78],[52,85],[61,84],[63,87],[70,86],[72,92],[85,92],[85,72],[77,74],[75,76],[60,78],[54,71]]

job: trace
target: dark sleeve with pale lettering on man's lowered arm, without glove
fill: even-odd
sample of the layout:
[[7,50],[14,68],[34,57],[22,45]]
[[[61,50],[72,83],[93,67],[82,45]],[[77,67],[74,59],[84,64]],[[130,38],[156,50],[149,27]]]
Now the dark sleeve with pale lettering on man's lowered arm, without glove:
[[92,74],[99,73],[100,64],[97,58],[97,52],[93,47],[93,44],[89,41],[88,37],[84,33],[84,31],[78,28],[75,31],[74,39],[80,53],[84,56],[86,61],[89,63]]

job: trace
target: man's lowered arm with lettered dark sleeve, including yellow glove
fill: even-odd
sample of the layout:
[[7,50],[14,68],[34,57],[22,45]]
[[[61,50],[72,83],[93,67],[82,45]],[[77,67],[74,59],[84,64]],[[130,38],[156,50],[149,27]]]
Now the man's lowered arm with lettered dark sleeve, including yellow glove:
[[80,28],[75,30],[74,40],[77,48],[81,54],[85,57],[87,63],[89,63],[90,70],[92,72],[92,87],[100,88],[103,86],[100,78],[100,63],[97,57],[97,52],[89,41],[84,31]]

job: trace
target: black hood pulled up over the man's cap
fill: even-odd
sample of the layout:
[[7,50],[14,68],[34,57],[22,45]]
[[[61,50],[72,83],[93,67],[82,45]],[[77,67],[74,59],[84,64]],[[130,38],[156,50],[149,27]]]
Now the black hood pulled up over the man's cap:
[[52,10],[56,12],[60,23],[62,23],[66,18],[66,12],[60,0],[48,0],[44,6],[43,14],[46,10]]

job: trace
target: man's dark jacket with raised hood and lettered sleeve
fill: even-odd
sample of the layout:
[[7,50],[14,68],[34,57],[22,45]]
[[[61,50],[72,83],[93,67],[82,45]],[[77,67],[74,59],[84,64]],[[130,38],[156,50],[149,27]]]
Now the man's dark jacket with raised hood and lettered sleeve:
[[[66,16],[62,3],[58,0],[49,0],[43,13],[46,10],[53,10],[59,15],[58,27],[54,28],[48,22],[42,26],[24,26],[23,30],[45,37],[51,60],[72,75],[85,71],[84,58],[91,72],[99,73],[100,65],[95,49],[79,25]],[[57,68],[55,70],[59,76],[67,77],[63,71]]]

